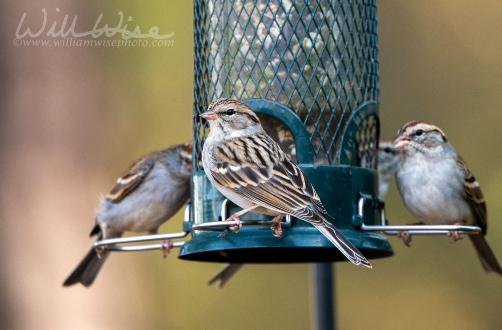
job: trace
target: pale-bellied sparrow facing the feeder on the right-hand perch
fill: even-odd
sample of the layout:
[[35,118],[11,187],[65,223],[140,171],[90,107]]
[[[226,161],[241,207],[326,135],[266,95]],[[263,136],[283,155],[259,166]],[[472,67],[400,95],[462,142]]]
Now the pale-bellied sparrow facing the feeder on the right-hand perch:
[[[482,234],[468,235],[486,272],[502,275],[484,239],[486,204],[479,184],[437,126],[412,121],[401,127],[392,144],[402,150],[396,172],[399,193],[413,216],[426,225],[475,225]],[[405,243],[407,236],[404,235]],[[449,233],[454,241],[458,232]],[[409,242],[408,242],[409,243]]]

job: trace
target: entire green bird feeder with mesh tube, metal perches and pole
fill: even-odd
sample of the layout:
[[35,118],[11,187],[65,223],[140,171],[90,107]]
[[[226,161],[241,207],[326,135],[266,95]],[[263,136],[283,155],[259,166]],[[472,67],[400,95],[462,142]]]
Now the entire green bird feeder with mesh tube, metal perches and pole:
[[[366,258],[393,255],[388,240],[413,235],[477,234],[474,226],[389,226],[376,197],[380,133],[375,0],[194,0],[193,159],[208,132],[199,117],[220,97],[244,101],[315,187],[333,224]],[[292,137],[292,138],[287,138]],[[98,241],[110,251],[160,249],[122,245],[185,238],[181,259],[218,262],[318,262],[314,265],[315,324],[334,325],[332,267],[345,257],[305,221],[286,217],[283,238],[271,217],[241,216],[239,233],[227,228],[240,210],[214,189],[193,162],[191,203],[183,231]],[[355,271],[355,268],[354,268]]]

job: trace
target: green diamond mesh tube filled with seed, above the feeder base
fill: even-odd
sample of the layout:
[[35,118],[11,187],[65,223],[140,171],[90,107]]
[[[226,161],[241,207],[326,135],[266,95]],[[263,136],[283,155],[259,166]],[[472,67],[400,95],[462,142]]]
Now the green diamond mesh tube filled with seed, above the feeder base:
[[348,118],[378,101],[376,38],[374,0],[195,0],[194,156],[212,100],[264,98],[304,122],[316,164],[337,164]]

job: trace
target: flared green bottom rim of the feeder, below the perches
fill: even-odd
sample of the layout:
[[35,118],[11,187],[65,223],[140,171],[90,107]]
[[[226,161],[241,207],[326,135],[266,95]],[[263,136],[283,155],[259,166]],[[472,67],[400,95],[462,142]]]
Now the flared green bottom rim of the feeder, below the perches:
[[[359,234],[340,230],[367,259],[393,255],[388,242],[377,234]],[[380,247],[380,248],[375,248]],[[179,258],[185,260],[287,263],[348,261],[317,229],[283,229],[283,237],[272,236],[268,228],[244,228],[239,233],[226,231],[211,238],[200,238],[185,243]]]

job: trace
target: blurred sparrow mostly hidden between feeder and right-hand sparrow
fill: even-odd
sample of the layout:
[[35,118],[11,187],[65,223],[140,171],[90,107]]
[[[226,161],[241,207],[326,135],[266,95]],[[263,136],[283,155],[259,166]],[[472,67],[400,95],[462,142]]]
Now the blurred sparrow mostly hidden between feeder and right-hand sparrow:
[[380,140],[378,147],[378,197],[385,200],[389,183],[396,175],[401,150],[392,148],[392,141]]

